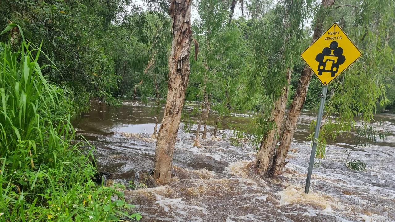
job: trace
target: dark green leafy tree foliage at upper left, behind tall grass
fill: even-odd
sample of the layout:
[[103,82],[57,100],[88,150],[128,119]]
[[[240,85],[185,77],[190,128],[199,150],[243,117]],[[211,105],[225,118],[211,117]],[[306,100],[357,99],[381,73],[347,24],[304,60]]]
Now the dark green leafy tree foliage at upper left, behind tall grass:
[[[75,97],[79,99],[76,105],[83,107],[87,98],[119,105],[113,96],[120,77],[108,47],[114,39],[123,37],[115,24],[123,21],[128,5],[128,0],[5,0],[0,23],[19,24],[31,44],[43,42],[41,50],[46,56],[40,56],[38,62],[53,64],[42,68],[43,76],[58,85],[72,86],[68,90],[79,95]],[[10,32],[14,45],[21,43],[18,32],[17,29]],[[7,35],[0,38],[6,41]]]

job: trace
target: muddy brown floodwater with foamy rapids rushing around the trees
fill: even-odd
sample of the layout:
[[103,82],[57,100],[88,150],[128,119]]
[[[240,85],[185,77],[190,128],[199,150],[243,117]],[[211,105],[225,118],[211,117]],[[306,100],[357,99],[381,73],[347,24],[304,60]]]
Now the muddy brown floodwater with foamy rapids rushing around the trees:
[[[137,185],[153,168],[156,141],[150,139],[155,117],[151,105],[125,100],[122,107],[94,102],[91,111],[73,120],[77,133],[96,147],[98,167],[113,179]],[[186,105],[192,113],[199,104]],[[163,113],[160,113],[162,116]],[[198,116],[190,115],[197,120]],[[209,124],[216,113],[210,114]],[[234,113],[223,124],[251,124],[251,114]],[[250,167],[256,151],[212,138],[209,126],[203,147],[193,147],[194,135],[181,124],[173,156],[173,178],[166,186],[126,190],[125,198],[141,212],[141,221],[177,222],[389,222],[395,221],[395,134],[351,154],[367,163],[366,172],[344,166],[352,138],[339,138],[326,149],[326,159],[312,174],[310,194],[303,193],[310,141],[316,114],[304,111],[283,175],[261,179]],[[378,128],[395,132],[395,115],[380,114]],[[196,125],[192,126],[192,132]]]

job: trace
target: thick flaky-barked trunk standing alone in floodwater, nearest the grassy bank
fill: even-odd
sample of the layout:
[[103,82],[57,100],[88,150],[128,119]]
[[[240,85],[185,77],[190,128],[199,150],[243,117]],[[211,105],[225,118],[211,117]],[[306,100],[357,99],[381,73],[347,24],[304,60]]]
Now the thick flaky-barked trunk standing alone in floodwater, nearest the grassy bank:
[[154,178],[159,184],[171,180],[171,161],[190,74],[191,0],[172,0],[169,15],[172,18],[173,35],[169,58],[169,87],[155,149]]

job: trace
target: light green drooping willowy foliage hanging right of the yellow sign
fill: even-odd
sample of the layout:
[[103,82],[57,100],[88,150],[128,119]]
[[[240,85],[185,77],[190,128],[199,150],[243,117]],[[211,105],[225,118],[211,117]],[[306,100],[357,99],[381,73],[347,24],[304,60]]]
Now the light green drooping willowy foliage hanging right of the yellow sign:
[[[327,23],[330,19],[340,21],[363,56],[329,86],[325,106],[328,118],[320,128],[318,158],[324,158],[327,140],[335,140],[345,131],[359,132],[357,122],[366,128],[389,102],[386,92],[391,92],[388,83],[394,73],[394,45],[389,36],[394,32],[394,5],[382,1],[347,2],[331,9]],[[348,16],[344,16],[346,12]]]

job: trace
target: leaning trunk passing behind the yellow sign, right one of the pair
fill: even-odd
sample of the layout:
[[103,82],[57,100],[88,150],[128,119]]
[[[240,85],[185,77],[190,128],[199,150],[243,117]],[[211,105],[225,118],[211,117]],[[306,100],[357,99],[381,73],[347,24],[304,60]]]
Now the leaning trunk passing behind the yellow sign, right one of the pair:
[[[312,42],[316,41],[321,36],[322,25],[327,14],[327,10],[325,9],[329,6],[332,6],[333,2],[334,0],[322,0],[320,11],[324,11],[324,13],[318,14],[319,17],[314,28]],[[287,119],[285,120],[284,128],[281,133],[280,145],[278,145],[278,149],[276,151],[276,160],[274,166],[275,175],[280,175],[282,173],[282,169],[288,163],[285,160],[292,143],[293,135],[295,134],[297,120],[299,119],[303,104],[305,104],[311,77],[312,71],[310,68],[308,68],[308,66],[305,65],[295,91],[295,96],[293,97],[290,106],[290,111],[288,112]]]

